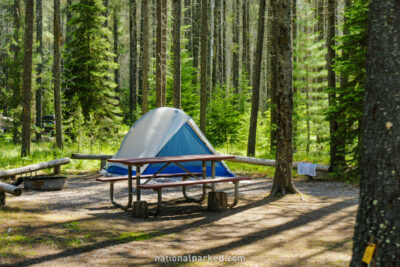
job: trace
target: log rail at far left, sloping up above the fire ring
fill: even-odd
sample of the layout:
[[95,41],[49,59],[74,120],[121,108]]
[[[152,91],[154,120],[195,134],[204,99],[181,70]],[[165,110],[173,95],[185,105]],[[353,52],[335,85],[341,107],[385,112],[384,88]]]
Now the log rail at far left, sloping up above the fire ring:
[[19,174],[24,174],[24,173],[30,173],[30,172],[35,172],[43,169],[50,169],[54,168],[54,173],[58,174],[60,171],[60,166],[64,164],[68,164],[70,162],[69,158],[61,158],[61,159],[55,159],[47,162],[41,162],[38,164],[34,165],[29,165],[29,166],[24,166],[21,168],[16,168],[16,169],[10,169],[10,170],[4,170],[0,171],[0,178],[5,178],[5,177],[15,177],[16,175]]

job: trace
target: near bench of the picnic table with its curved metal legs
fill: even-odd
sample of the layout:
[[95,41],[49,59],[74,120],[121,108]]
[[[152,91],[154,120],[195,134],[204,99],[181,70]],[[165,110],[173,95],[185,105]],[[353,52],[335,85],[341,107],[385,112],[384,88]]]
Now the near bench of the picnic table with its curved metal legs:
[[[216,183],[227,183],[232,182],[235,185],[235,198],[232,204],[228,206],[230,208],[236,206],[239,201],[239,182],[244,180],[251,180],[251,177],[217,177],[211,179],[200,179],[200,180],[184,180],[181,182],[169,182],[169,183],[156,183],[156,184],[143,184],[138,185],[140,189],[153,189],[157,191],[157,210],[155,216],[157,216],[161,212],[162,208],[162,189],[169,188],[169,187],[183,187],[183,195],[185,196],[186,200],[193,201],[193,202],[202,202],[205,199],[205,185],[207,184],[216,184]],[[190,198],[187,196],[185,188],[186,186],[191,185],[203,185],[203,194],[199,200]]]

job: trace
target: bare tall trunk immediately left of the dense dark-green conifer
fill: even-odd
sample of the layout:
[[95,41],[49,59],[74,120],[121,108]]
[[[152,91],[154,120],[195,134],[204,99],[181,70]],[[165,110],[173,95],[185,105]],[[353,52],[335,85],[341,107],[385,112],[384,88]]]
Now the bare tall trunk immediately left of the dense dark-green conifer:
[[61,8],[60,0],[54,0],[54,111],[56,115],[56,144],[62,149],[62,114],[61,114]]

